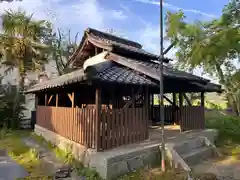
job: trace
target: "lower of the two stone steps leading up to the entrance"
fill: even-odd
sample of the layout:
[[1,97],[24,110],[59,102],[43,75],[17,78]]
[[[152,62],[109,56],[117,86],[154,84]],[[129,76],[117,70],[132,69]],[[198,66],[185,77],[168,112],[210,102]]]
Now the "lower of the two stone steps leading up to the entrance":
[[182,154],[182,159],[191,167],[214,156],[212,147],[198,147]]

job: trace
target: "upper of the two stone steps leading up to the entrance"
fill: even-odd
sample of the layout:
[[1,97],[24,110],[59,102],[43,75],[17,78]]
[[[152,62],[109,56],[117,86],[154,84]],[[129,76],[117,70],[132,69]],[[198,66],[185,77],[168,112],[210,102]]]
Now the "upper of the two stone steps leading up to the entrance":
[[196,149],[204,146],[205,146],[205,142],[203,138],[197,138],[197,139],[192,138],[186,142],[176,145],[174,149],[179,155],[181,155],[181,154],[186,154],[188,152],[191,152],[192,149]]

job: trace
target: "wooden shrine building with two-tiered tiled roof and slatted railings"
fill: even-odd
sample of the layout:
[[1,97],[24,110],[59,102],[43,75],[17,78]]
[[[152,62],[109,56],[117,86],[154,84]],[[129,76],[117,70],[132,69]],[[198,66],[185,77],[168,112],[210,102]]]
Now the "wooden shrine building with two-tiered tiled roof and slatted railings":
[[[76,70],[26,92],[36,95],[36,125],[97,151],[147,139],[159,93],[157,60],[136,42],[88,28],[69,60]],[[221,87],[164,62],[164,92],[173,96],[165,97],[165,119],[182,131],[203,129],[204,92]],[[183,105],[184,93],[193,92],[201,93],[201,104]]]

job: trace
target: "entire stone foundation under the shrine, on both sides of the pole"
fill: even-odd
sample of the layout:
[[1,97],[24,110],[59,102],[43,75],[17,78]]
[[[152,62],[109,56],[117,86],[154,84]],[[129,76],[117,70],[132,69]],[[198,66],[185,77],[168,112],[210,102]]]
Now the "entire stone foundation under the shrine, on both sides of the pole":
[[[157,134],[154,134],[157,133]],[[161,134],[151,130],[150,138],[143,142],[121,146],[104,152],[96,152],[84,146],[53,133],[43,127],[35,125],[35,133],[43,136],[61,149],[68,149],[76,159],[80,160],[86,167],[95,169],[103,178],[125,174],[144,166],[154,164],[159,159],[159,147],[161,145]],[[168,132],[168,131],[167,131]],[[159,133],[159,134],[158,134]],[[166,133],[166,141],[170,144],[178,143],[194,136],[207,136],[214,142],[217,132],[214,130],[201,130],[190,133]],[[157,138],[158,137],[158,138]]]

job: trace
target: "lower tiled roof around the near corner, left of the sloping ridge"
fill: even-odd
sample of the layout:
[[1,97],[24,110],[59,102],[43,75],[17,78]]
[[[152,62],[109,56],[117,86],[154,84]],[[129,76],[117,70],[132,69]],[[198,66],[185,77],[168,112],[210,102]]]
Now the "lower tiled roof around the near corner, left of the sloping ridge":
[[138,72],[125,68],[120,65],[113,65],[112,62],[102,63],[95,65],[84,73],[83,69],[76,70],[72,73],[64,74],[54,79],[50,79],[39,83],[26,91],[31,93],[44,89],[56,88],[68,84],[81,82],[84,80],[100,80],[108,83],[119,83],[119,84],[138,84],[138,85],[157,85],[153,80],[140,75]]

